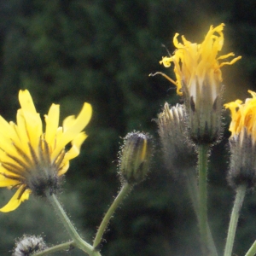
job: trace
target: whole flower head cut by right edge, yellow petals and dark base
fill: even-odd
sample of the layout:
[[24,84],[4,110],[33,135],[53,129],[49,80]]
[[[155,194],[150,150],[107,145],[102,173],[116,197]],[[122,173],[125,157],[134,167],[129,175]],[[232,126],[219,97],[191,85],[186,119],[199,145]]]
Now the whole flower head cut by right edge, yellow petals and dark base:
[[224,104],[230,109],[230,171],[228,181],[236,188],[256,184],[256,92],[248,90],[252,98]]

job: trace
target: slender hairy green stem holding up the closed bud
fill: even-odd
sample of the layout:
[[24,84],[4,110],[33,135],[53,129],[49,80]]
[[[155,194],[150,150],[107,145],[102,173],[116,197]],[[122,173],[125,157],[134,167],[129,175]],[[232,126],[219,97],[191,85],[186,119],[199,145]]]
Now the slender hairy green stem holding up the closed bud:
[[110,218],[113,216],[113,212],[119,206],[120,202],[123,201],[125,196],[131,191],[132,185],[129,183],[125,183],[123,187],[119,191],[119,195],[114,199],[111,207],[108,208],[108,212],[105,214],[104,218],[102,219],[102,223],[100,224],[99,229],[97,230],[96,237],[93,241],[93,247],[96,248],[100,245],[102,241],[102,236],[108,226],[108,222]]

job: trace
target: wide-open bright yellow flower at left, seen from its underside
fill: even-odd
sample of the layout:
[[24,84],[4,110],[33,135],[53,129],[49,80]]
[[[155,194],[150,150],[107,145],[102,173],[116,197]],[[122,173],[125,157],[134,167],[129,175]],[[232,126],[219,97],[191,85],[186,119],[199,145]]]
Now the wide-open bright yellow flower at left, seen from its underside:
[[[69,116],[59,127],[60,106],[52,104],[44,115],[43,132],[42,119],[28,90],[20,90],[19,101],[16,124],[0,116],[0,187],[17,189],[1,212],[15,210],[31,193],[56,192],[69,160],[79,155],[87,137],[81,131],[92,113],[90,104],[85,102],[77,118]],[[67,143],[71,143],[71,148],[65,152]]]

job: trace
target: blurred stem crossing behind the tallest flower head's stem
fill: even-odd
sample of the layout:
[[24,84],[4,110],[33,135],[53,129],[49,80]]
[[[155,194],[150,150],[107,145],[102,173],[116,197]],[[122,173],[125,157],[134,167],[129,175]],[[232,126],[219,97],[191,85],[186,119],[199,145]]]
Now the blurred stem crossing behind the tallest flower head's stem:
[[[186,172],[186,178],[187,178],[187,186],[189,189],[189,196],[192,201],[192,206],[195,211],[196,218],[199,222],[199,199],[198,199],[198,187],[196,182],[196,177],[194,170],[188,170]],[[210,255],[212,256],[218,256],[218,252],[215,246],[215,243],[212,238],[212,232],[210,230],[209,224],[207,223],[207,234],[208,234],[208,244],[210,249]]]

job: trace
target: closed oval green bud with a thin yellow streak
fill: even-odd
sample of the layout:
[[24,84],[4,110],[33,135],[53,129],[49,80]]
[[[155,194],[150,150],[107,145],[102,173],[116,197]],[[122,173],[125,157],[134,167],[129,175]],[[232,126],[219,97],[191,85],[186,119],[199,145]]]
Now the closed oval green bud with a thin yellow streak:
[[119,152],[119,174],[127,183],[139,183],[147,176],[153,154],[153,141],[148,133],[130,132]]

